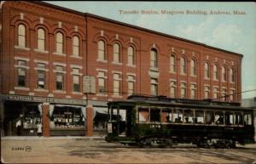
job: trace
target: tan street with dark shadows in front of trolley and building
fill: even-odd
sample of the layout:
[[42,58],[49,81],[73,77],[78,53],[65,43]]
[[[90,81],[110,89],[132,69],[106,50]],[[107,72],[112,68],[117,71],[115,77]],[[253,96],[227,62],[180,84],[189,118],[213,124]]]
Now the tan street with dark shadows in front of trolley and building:
[[97,138],[2,138],[5,163],[256,163],[256,144],[236,149],[137,148]]

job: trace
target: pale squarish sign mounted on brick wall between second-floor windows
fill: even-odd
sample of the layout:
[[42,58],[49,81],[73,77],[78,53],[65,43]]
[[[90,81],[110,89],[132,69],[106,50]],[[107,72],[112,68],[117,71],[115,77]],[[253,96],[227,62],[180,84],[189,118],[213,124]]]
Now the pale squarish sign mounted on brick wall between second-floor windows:
[[83,77],[83,93],[96,93],[96,77],[95,76]]

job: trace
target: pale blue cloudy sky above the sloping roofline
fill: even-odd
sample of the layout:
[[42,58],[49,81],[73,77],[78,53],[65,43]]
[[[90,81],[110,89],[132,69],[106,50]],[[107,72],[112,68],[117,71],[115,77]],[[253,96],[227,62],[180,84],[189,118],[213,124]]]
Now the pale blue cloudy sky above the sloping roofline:
[[[243,54],[241,91],[256,89],[256,3],[120,1],[47,1],[46,3]],[[124,14],[120,10],[130,13]],[[177,14],[161,14],[161,10]],[[132,14],[134,11],[137,14]],[[143,14],[143,11],[159,14]],[[211,11],[222,14],[211,14]],[[242,14],[234,14],[234,11]],[[256,91],[242,93],[241,96],[242,99],[250,99],[256,97]]]

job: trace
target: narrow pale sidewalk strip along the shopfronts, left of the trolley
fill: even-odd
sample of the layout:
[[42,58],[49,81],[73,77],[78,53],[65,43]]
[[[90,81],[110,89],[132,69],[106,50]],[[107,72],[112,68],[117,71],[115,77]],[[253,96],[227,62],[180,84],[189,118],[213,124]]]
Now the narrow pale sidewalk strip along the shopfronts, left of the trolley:
[[105,139],[105,136],[51,136],[51,137],[43,137],[43,136],[4,136],[1,137],[1,140],[31,140],[31,139]]

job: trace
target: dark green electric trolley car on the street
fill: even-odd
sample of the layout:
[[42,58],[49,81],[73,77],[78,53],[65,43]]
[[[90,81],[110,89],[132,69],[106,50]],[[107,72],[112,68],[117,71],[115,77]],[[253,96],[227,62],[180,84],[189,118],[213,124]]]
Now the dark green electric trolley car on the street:
[[231,148],[253,137],[253,110],[239,103],[141,95],[108,103],[108,142]]

